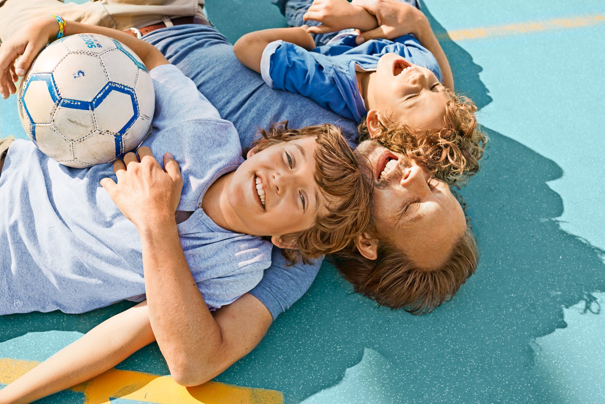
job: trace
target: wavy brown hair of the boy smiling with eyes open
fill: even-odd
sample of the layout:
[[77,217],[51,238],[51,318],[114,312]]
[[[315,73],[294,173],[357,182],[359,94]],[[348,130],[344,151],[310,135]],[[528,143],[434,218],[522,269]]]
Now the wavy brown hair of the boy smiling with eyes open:
[[307,230],[281,236],[286,244],[296,243],[298,250],[282,249],[290,265],[335,253],[355,240],[370,222],[370,184],[365,179],[353,150],[332,124],[291,129],[288,121],[260,129],[252,144],[255,153],[272,145],[302,137],[316,137],[315,182],[328,200],[327,213],[319,213]]

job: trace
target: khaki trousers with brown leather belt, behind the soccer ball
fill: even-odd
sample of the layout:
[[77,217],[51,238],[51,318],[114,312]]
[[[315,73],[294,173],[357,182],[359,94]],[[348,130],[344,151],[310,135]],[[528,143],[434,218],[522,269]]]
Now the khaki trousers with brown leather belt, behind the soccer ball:
[[59,15],[68,21],[125,30],[156,24],[163,17],[200,16],[204,0],[93,0],[84,4],[62,0],[0,0],[0,42],[31,19]]

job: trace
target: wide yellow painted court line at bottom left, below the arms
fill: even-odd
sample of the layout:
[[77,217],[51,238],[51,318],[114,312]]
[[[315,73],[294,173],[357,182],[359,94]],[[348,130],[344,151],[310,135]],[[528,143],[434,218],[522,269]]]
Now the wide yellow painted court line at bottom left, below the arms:
[[[39,362],[0,359],[0,383],[8,384],[27,373]],[[159,404],[283,404],[281,392],[208,382],[201,386],[183,387],[171,376],[110,369],[94,379],[71,388],[84,394],[85,404],[110,404],[110,398]]]

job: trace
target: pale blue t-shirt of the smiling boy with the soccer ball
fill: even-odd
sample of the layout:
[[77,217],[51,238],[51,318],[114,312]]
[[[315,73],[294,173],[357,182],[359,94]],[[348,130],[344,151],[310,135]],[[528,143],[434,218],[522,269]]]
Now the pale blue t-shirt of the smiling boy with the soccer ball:
[[[178,224],[181,245],[206,303],[218,308],[257,285],[272,244],[225,230],[198,208],[208,187],[243,161],[240,139],[177,67],[150,74],[154,128],[143,145],[180,164],[178,210],[194,211]],[[0,315],[83,313],[143,299],[139,233],[100,186],[103,177],[116,180],[112,164],[68,168],[30,141],[11,145],[0,176]]]

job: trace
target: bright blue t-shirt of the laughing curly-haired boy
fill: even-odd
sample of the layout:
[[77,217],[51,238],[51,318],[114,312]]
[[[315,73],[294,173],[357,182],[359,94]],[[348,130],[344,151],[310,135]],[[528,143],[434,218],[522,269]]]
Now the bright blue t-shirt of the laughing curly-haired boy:
[[385,53],[396,53],[428,68],[443,81],[437,60],[413,35],[393,41],[373,39],[361,45],[355,43],[356,36],[342,33],[311,51],[289,42],[273,41],[263,51],[261,75],[270,87],[307,96],[357,123],[367,111],[355,72],[376,70],[378,59]]

